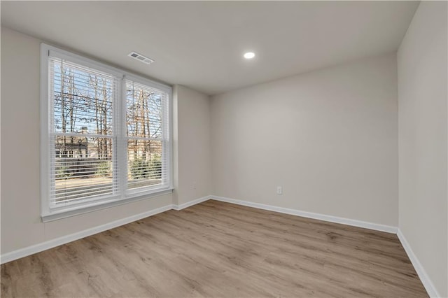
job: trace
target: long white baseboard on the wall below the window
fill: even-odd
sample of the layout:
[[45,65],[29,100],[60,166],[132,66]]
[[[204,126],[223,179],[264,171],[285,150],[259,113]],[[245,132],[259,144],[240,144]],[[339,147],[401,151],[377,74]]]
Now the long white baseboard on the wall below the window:
[[104,232],[108,229],[113,229],[114,227],[120,227],[120,225],[126,225],[130,222],[134,222],[136,220],[141,220],[142,218],[147,218],[148,216],[171,210],[173,207],[174,207],[173,205],[167,205],[167,206],[163,206],[160,208],[155,208],[151,211],[146,211],[144,213],[132,215],[127,218],[122,218],[120,220],[108,222],[104,225],[92,227],[91,229],[85,229],[80,232],[62,236],[62,237],[59,237],[56,239],[51,239],[51,240],[48,240],[48,241],[45,241],[42,243],[35,244],[34,246],[28,246],[27,248],[21,248],[18,250],[14,250],[10,253],[5,253],[5,254],[1,255],[0,264],[4,264],[6,262],[20,259],[20,257],[27,257],[28,255],[33,255],[34,253],[39,253],[43,250],[48,250],[48,249],[54,248],[56,246],[61,246],[62,244],[66,244],[71,241],[75,241],[75,240],[78,240],[78,239],[81,239],[81,238],[84,238],[87,236],[91,236],[91,235],[97,234],[99,232]]

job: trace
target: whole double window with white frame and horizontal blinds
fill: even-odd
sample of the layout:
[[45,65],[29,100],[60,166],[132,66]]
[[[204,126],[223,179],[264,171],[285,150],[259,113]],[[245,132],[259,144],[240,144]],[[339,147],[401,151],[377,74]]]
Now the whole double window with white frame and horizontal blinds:
[[171,88],[41,46],[43,221],[172,190]]

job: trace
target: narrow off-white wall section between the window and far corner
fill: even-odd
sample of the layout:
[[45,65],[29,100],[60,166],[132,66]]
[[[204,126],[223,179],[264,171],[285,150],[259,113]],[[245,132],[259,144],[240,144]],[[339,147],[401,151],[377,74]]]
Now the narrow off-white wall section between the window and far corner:
[[174,86],[174,204],[211,194],[210,101],[207,95]]

